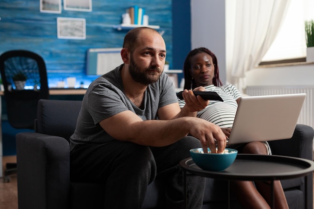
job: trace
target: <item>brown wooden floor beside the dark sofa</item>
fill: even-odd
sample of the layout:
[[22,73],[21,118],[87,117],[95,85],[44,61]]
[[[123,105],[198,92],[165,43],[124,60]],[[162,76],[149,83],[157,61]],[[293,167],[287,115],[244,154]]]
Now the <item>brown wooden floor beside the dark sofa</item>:
[[[3,157],[3,170],[7,162],[16,162],[16,156]],[[314,177],[313,177],[314,181]],[[314,196],[314,194],[313,194]],[[314,208],[314,203],[313,203]],[[13,174],[10,177],[10,182],[5,183],[0,179],[0,209],[18,209],[18,188],[17,188],[17,175]]]

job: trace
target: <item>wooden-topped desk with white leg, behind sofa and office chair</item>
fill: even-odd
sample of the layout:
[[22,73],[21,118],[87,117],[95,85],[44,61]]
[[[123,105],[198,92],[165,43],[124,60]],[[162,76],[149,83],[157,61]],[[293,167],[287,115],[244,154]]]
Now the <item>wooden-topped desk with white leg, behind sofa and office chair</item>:
[[[50,95],[84,95],[87,89],[63,89],[63,88],[53,88],[49,89]],[[0,91],[0,178],[3,177],[3,145],[2,145],[2,103],[1,103],[1,96],[4,95],[3,91]]]

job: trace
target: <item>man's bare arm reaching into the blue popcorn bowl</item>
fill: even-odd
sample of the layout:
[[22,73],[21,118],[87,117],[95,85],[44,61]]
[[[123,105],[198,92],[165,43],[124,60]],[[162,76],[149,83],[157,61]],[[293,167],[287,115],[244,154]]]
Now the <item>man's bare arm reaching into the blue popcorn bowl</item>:
[[[180,108],[179,108],[180,109]],[[222,152],[226,147],[226,136],[219,126],[196,117],[173,120],[141,120],[131,111],[123,111],[100,122],[101,127],[113,138],[145,146],[170,145],[188,133],[201,141],[204,150],[209,147]]]

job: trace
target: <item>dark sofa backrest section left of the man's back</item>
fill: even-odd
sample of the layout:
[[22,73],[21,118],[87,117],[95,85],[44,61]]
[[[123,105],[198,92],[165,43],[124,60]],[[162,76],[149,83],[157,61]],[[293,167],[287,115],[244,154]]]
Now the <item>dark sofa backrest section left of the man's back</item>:
[[81,104],[82,101],[39,100],[36,132],[61,136],[69,141],[75,130]]

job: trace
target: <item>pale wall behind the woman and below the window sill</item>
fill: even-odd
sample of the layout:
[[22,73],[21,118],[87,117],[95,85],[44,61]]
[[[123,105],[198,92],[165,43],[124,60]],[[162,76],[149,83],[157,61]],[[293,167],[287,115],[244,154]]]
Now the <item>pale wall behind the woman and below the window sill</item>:
[[[220,77],[226,83],[225,1],[191,0],[192,49],[206,47],[218,59]],[[256,68],[247,72],[248,86],[314,85],[314,65]]]

